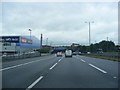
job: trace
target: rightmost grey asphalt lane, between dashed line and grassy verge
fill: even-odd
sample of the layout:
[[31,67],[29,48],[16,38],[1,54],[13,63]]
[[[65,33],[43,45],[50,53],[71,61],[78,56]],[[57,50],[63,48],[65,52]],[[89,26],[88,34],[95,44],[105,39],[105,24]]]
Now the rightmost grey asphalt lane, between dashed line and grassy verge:
[[91,58],[91,57],[86,57],[86,56],[76,56],[79,60],[84,60],[88,64],[93,64],[107,72],[108,74],[111,75],[112,77],[117,77],[118,78],[118,63],[120,62],[115,62],[111,60],[105,60],[105,59],[98,59],[98,58]]

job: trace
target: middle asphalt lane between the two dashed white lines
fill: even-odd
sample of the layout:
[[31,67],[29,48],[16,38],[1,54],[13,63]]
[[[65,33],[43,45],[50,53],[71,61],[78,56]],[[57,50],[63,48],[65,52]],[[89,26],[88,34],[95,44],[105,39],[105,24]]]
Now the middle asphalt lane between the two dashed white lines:
[[33,88],[117,88],[117,79],[111,78],[75,57],[63,58],[55,68]]

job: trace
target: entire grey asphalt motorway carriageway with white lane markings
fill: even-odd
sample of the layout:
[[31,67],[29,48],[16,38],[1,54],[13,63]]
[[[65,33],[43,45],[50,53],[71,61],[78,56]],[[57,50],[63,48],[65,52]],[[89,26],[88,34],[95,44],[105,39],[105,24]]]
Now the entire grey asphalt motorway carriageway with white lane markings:
[[3,62],[3,88],[118,88],[118,62],[55,55]]

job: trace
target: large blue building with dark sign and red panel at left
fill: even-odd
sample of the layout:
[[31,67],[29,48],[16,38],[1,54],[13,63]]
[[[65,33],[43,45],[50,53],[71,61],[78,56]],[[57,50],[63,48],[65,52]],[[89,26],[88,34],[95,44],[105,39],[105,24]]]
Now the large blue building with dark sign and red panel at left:
[[0,45],[2,53],[26,53],[41,47],[35,36],[1,36]]

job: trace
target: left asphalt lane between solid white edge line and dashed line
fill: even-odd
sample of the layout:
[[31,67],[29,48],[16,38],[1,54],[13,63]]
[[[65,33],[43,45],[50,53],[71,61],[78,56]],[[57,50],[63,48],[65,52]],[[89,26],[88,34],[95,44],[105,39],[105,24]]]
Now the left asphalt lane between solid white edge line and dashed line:
[[27,88],[40,75],[47,73],[49,68],[58,62],[59,59],[54,56],[52,59],[47,58],[39,62],[3,71],[3,88]]

